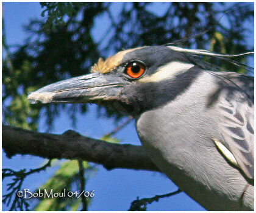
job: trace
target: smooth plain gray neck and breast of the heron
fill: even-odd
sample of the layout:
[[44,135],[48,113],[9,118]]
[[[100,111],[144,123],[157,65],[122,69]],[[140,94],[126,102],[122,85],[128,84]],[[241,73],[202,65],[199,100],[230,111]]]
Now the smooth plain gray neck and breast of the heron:
[[208,105],[207,94],[216,93],[218,79],[203,72],[192,81],[169,102],[137,117],[143,147],[163,173],[208,210],[250,210],[254,187],[249,186],[244,204],[238,203],[247,181],[212,141],[221,133],[215,104]]

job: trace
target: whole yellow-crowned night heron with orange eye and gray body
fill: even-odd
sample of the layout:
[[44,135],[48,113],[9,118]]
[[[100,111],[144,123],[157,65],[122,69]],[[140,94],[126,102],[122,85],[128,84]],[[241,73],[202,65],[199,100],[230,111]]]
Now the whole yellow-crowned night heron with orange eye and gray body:
[[91,74],[45,86],[29,99],[125,111],[152,161],[191,198],[208,210],[252,210],[254,79],[209,71],[195,55],[230,57],[138,47],[101,58]]

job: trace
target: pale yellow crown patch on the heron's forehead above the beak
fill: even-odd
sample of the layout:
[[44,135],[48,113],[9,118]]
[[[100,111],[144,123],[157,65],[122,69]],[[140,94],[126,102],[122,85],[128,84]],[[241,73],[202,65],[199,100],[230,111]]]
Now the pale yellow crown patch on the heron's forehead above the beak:
[[103,74],[112,72],[117,66],[121,64],[124,55],[126,55],[128,52],[132,52],[141,48],[142,47],[137,47],[133,49],[127,49],[126,51],[120,51],[117,54],[108,57],[106,60],[99,58],[98,63],[91,67],[91,72],[101,72]]

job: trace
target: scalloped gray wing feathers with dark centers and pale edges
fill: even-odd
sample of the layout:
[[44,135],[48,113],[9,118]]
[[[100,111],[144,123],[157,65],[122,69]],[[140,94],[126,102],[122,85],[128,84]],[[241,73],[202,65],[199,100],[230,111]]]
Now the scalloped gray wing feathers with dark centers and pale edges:
[[236,100],[222,101],[219,108],[224,144],[248,178],[254,179],[254,108]]

